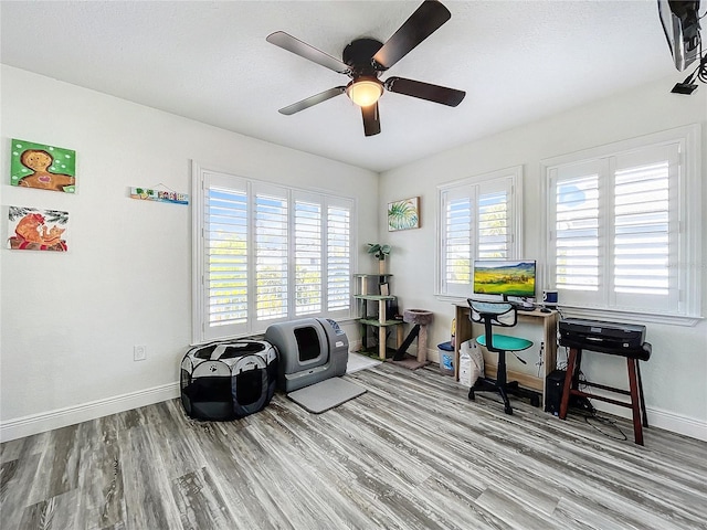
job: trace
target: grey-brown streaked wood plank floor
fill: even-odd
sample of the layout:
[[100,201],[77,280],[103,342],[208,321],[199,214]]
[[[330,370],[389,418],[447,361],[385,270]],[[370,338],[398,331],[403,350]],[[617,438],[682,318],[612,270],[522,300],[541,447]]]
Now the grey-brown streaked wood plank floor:
[[175,400],[2,444],[0,527],[707,529],[707,443],[508,416],[430,368],[346,378],[368,392],[320,415],[277,393],[198,422]]

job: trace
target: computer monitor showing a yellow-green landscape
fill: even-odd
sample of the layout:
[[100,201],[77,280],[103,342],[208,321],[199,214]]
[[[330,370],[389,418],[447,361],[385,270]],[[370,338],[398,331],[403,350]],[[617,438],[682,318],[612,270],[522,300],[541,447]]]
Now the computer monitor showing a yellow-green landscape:
[[534,298],[535,269],[532,259],[475,259],[474,294]]

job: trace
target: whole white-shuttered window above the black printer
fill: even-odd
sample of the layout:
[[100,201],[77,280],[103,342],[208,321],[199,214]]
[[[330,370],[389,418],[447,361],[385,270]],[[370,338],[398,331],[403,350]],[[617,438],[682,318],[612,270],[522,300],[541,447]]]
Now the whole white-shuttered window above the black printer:
[[562,306],[699,315],[696,136],[688,127],[544,163],[548,285]]

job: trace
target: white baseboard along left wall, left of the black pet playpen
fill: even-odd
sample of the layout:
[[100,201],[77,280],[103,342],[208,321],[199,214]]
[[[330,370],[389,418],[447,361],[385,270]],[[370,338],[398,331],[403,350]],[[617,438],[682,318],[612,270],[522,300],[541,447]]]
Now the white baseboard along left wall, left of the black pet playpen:
[[128,394],[115,395],[105,400],[66,406],[0,423],[0,442],[52,431],[53,428],[75,425],[97,417],[129,411],[152,403],[179,398],[179,383],[168,383]]

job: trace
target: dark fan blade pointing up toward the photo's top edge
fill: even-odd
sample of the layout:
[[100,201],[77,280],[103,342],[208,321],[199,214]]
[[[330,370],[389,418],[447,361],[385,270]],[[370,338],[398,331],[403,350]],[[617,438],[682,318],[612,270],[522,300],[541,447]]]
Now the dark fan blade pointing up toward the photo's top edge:
[[373,61],[383,70],[390,68],[451,17],[450,10],[439,1],[425,0],[373,55]]

